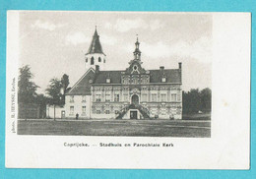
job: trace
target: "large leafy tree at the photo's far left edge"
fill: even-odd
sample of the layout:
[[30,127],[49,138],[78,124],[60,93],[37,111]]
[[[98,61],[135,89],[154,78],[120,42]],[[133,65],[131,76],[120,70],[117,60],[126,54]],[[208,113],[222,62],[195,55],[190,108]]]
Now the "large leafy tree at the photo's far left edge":
[[19,70],[20,76],[18,80],[18,102],[32,103],[34,102],[36,89],[38,86],[32,82],[33,75],[31,72],[31,67],[26,65]]

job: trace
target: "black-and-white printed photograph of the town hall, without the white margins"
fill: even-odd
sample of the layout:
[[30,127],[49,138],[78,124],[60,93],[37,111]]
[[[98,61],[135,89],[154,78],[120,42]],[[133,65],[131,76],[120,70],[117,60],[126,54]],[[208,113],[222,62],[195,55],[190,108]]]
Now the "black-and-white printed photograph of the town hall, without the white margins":
[[18,135],[211,138],[213,15],[19,13]]

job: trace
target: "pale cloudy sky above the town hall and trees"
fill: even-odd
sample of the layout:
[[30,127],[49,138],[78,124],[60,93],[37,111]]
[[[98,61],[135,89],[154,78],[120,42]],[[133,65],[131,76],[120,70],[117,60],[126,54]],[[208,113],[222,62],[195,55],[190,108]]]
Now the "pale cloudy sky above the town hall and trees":
[[212,15],[203,13],[22,11],[19,65],[30,65],[38,93],[63,74],[72,87],[86,72],[95,30],[106,70],[129,66],[138,34],[143,68],[177,69],[182,62],[183,90],[211,89],[212,28]]

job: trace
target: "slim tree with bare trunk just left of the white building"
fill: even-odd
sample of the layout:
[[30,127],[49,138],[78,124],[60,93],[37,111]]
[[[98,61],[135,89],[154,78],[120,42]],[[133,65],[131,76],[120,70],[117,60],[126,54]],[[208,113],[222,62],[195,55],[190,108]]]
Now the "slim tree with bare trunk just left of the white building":
[[54,120],[55,120],[55,107],[56,105],[61,105],[62,100],[62,84],[61,81],[58,79],[51,79],[50,85],[48,86],[48,89],[46,89],[47,94],[49,95],[49,104],[53,105],[54,108]]

